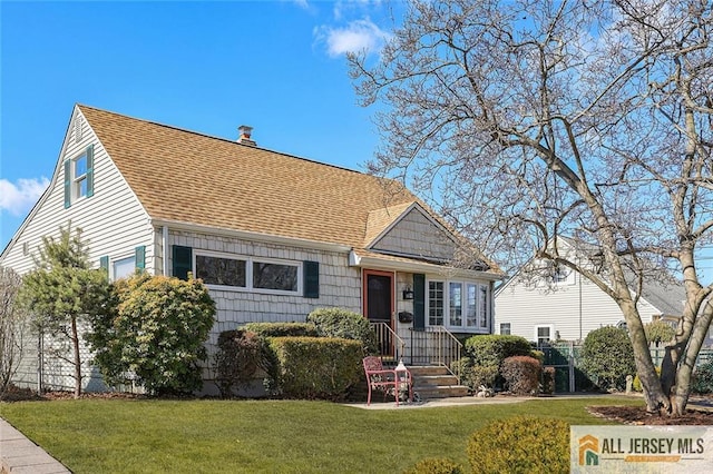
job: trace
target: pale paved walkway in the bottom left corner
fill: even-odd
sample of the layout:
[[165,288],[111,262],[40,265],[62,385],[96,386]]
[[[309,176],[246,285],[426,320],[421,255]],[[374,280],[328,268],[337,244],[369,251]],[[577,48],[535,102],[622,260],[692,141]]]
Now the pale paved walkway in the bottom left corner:
[[0,474],[70,473],[59,461],[0,418]]

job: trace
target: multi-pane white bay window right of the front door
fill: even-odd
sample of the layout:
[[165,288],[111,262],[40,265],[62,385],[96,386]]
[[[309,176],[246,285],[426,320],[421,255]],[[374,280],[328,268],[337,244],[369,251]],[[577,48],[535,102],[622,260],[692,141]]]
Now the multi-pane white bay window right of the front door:
[[[490,327],[488,285],[469,282],[429,282],[428,285],[430,326],[446,325],[452,329],[478,330]],[[448,315],[446,322],[445,315]]]

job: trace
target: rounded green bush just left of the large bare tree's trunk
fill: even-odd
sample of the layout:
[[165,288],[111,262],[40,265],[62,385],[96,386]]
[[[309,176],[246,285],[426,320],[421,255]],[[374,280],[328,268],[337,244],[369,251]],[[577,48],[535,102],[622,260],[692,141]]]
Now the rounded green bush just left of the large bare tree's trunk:
[[587,334],[582,365],[600,388],[623,391],[626,376],[636,373],[634,348],[626,329],[605,326]]

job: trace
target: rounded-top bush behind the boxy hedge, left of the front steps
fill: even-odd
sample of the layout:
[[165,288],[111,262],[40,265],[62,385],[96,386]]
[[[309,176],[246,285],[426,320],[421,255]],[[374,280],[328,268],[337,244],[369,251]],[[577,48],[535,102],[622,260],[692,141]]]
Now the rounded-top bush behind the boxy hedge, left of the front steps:
[[319,308],[307,315],[320,336],[361,340],[364,355],[377,355],[377,333],[369,319],[343,308]]

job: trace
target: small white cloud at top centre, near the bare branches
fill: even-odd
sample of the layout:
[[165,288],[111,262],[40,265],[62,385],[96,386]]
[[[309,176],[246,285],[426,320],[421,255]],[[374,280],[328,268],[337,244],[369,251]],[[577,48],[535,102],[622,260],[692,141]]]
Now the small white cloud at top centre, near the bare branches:
[[326,52],[333,58],[346,52],[377,52],[390,38],[369,19],[352,21],[344,28],[321,27],[315,33],[326,43]]

